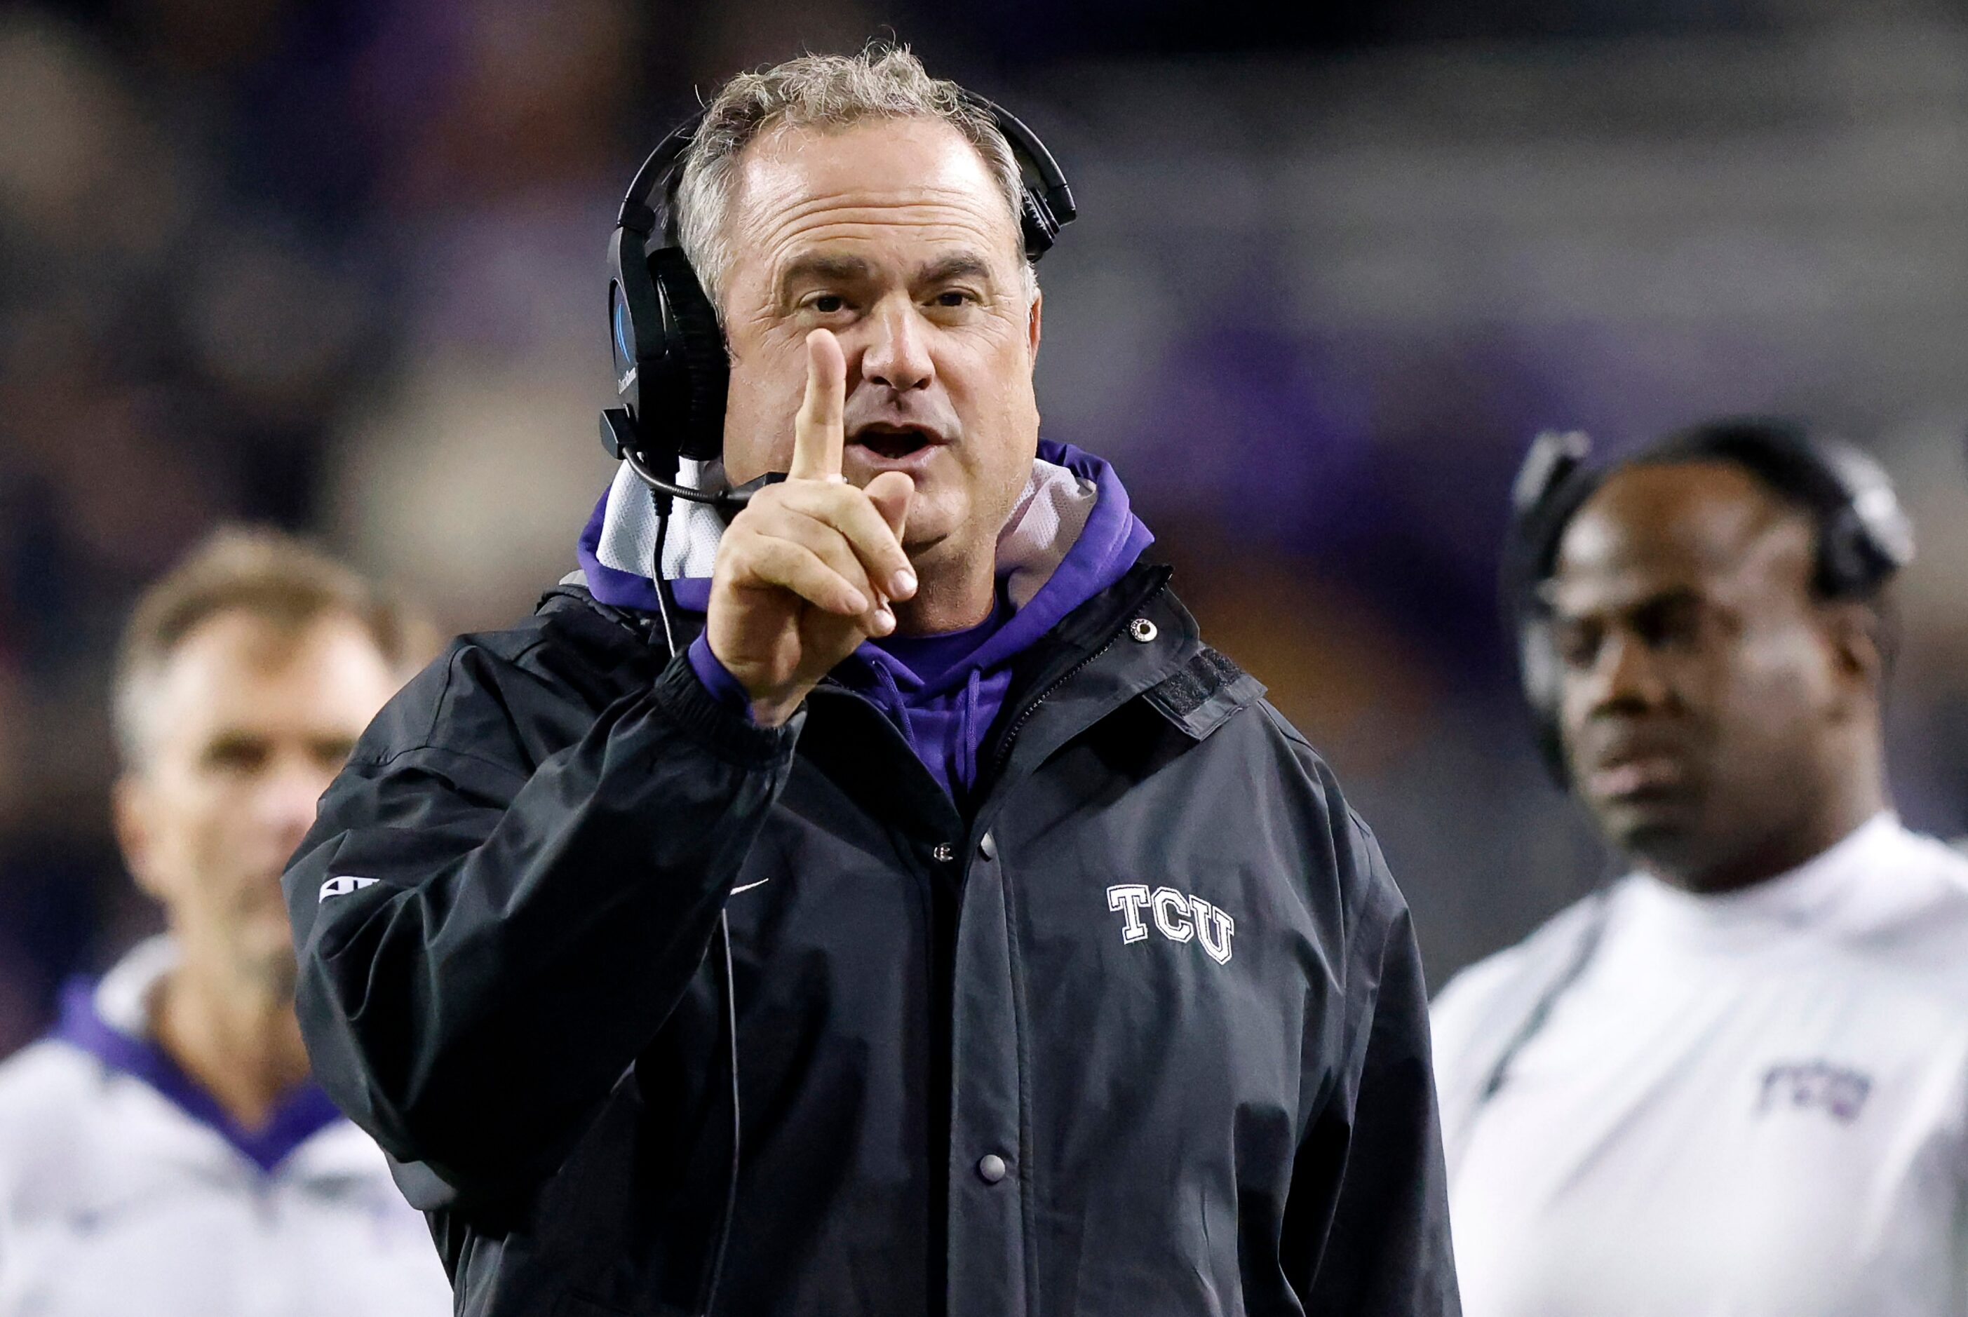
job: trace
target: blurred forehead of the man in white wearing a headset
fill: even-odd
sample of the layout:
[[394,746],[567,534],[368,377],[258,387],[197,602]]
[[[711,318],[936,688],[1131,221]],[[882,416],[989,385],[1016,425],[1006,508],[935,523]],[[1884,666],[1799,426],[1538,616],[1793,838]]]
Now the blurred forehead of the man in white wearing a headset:
[[1813,549],[1811,518],[1734,463],[1626,467],[1565,528],[1545,596],[1582,616],[1663,595],[1805,595]]

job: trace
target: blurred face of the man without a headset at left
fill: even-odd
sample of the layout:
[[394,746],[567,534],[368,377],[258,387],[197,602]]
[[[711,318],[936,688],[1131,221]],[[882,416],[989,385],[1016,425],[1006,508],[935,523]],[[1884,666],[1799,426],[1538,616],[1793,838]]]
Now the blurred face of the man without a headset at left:
[[396,689],[352,618],[299,632],[220,612],[165,659],[116,823],[138,884],[187,961],[291,984],[279,870],[362,728]]

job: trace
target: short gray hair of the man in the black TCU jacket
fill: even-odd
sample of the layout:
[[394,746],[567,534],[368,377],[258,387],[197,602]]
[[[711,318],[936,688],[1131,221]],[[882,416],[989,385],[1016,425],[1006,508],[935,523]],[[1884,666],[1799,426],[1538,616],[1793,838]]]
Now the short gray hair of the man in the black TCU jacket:
[[[724,280],[732,266],[728,211],[744,148],[781,126],[840,130],[872,118],[935,118],[960,132],[996,179],[1012,230],[1023,232],[1012,144],[956,83],[929,77],[907,45],[872,43],[858,55],[801,55],[764,73],[740,73],[720,87],[683,156],[677,236],[718,319],[724,319]],[[1019,268],[1029,301],[1039,291],[1039,278],[1025,260],[1023,238]]]

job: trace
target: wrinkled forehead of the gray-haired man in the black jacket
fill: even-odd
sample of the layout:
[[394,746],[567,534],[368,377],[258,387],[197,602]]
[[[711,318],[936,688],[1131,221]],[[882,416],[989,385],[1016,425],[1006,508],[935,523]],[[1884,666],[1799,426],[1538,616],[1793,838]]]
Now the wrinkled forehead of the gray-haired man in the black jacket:
[[781,126],[740,157],[734,252],[827,238],[917,236],[1017,250],[1017,224],[978,150],[933,118]]

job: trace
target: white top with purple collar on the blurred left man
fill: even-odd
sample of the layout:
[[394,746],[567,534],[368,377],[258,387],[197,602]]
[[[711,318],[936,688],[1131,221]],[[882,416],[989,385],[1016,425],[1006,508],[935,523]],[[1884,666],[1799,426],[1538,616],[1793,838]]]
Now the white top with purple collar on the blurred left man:
[[148,1037],[140,945],[0,1065],[0,1317],[443,1317],[382,1152],[309,1087],[260,1134]]

